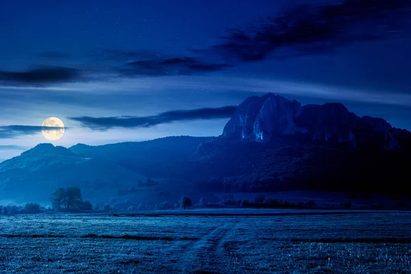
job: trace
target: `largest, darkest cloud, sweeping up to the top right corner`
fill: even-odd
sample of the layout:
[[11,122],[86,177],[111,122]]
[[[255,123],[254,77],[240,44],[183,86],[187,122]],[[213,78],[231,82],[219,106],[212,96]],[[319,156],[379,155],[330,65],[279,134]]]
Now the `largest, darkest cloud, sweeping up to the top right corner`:
[[[394,37],[410,23],[411,1],[345,0],[298,5],[247,29],[229,29],[207,51],[237,62],[327,53],[353,42]],[[201,52],[195,50],[195,52]]]

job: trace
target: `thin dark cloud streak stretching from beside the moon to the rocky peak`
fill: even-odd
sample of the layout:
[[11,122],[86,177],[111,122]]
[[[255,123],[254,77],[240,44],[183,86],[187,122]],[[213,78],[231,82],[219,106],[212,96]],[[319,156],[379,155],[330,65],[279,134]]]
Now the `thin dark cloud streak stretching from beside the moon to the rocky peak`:
[[70,117],[69,119],[82,123],[83,127],[93,130],[106,130],[111,127],[153,127],[175,121],[224,119],[234,114],[235,106],[222,108],[199,108],[196,110],[172,110],[154,116],[118,116],[118,117]]

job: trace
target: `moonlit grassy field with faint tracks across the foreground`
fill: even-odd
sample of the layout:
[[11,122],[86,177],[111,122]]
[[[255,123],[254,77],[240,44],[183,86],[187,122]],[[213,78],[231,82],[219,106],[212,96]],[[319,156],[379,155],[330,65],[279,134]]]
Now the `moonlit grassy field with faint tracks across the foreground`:
[[0,273],[411,273],[409,212],[239,212],[1,215]]

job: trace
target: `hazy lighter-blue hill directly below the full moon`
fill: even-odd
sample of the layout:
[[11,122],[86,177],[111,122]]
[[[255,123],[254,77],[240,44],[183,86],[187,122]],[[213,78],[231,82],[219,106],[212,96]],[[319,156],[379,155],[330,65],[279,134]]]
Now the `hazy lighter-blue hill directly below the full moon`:
[[58,186],[79,186],[86,199],[108,200],[121,188],[145,179],[99,158],[84,158],[65,147],[40,144],[0,163],[2,200],[48,202]]

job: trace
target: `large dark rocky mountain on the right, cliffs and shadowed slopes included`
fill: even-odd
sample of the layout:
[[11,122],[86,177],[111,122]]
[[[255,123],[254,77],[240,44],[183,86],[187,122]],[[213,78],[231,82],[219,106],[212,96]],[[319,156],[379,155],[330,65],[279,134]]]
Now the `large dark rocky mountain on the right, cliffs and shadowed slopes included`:
[[359,117],[341,103],[301,105],[269,93],[238,105],[223,134],[199,147],[194,172],[186,174],[203,188],[224,191],[400,192],[410,141],[406,129]]

